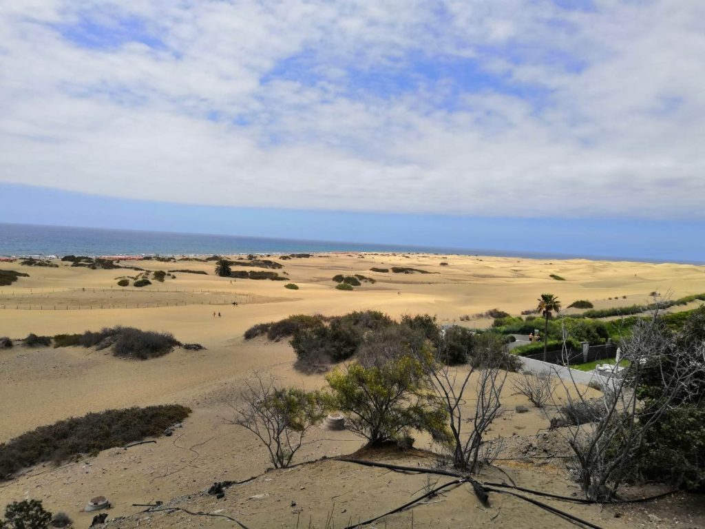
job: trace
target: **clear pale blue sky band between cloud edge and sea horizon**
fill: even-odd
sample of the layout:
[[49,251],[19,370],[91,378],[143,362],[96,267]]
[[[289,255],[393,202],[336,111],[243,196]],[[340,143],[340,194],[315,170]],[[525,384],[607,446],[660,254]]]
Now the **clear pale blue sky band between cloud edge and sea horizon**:
[[10,223],[705,262],[705,224],[697,221],[213,207],[11,184],[0,184],[0,193],[0,222]]

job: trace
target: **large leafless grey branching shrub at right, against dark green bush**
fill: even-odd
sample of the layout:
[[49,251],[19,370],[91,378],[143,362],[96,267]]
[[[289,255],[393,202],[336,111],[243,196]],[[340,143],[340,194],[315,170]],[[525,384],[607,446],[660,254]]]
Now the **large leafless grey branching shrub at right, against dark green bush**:
[[[641,458],[649,453],[649,439],[670,444],[654,434],[674,434],[673,449],[694,433],[686,434],[685,425],[679,426],[682,418],[673,413],[684,409],[682,403],[691,406],[701,399],[705,342],[685,349],[677,342],[656,313],[652,320],[637,322],[631,338],[620,343],[629,365],[606,380],[601,399],[589,399],[572,375],[561,380],[568,403],[560,408],[565,425],[560,431],[575,456],[573,470],[588,499],[613,499],[618,487],[639,471]],[[669,417],[673,423],[664,430]],[[669,432],[674,427],[680,431]],[[666,454],[663,448],[659,452]],[[666,455],[673,460],[674,454]],[[687,452],[678,456],[683,459]],[[698,457],[694,454],[696,464]]]

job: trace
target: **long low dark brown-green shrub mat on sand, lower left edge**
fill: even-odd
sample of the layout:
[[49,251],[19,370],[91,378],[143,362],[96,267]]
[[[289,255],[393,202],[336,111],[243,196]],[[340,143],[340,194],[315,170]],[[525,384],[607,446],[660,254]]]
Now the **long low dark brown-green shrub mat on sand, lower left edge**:
[[0,479],[37,463],[61,463],[80,454],[159,437],[190,413],[189,408],[170,404],[88,413],[40,426],[0,444]]

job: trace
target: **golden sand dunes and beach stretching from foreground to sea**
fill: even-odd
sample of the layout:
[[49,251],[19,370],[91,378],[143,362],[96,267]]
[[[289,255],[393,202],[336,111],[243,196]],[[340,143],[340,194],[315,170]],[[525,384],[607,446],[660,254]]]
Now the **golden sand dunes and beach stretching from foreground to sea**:
[[[90,411],[158,403],[180,403],[193,410],[183,429],[173,437],[160,438],[156,444],[106,450],[59,469],[48,465],[32,468],[0,485],[0,504],[25,497],[38,498],[53,511],[67,511],[81,524],[90,523],[91,516],[80,513],[80,509],[88,498],[97,494],[109,496],[114,505],[110,518],[114,518],[140,511],[133,504],[168,501],[207,489],[214,481],[242,480],[266,470],[262,446],[247,432],[227,423],[231,418],[228,403],[235,399],[243,379],[255,370],[271,372],[286,384],[306,388],[321,387],[324,377],[293,370],[295,355],[288,343],[244,341],[245,329],[253,324],[298,313],[341,315],[373,309],[392,317],[428,313],[443,324],[472,328],[491,323],[477,317],[479,313],[499,308],[519,314],[535,308],[537,298],[544,292],[556,294],[564,306],[584,299],[594,303],[595,308],[648,303],[652,291],[673,298],[705,292],[705,267],[644,262],[327,254],[281,261],[283,269],[278,272],[286,273],[288,281],[220,278],[214,275],[212,262],[125,262],[150,271],[207,272],[207,275],[175,272],[176,279],[167,276],[164,283],[154,281],[142,288],[117,286],[116,278],[139,273],[130,269],[93,270],[55,262],[59,267],[0,263],[0,270],[30,274],[10,286],[0,287],[0,336],[22,339],[30,332],[54,335],[128,325],[171,332],[184,343],[201,343],[206,348],[204,351],[179,348],[162,358],[144,362],[121,360],[106,351],[75,347],[16,346],[0,351],[0,442],[40,425]],[[430,273],[370,271],[393,266]],[[339,291],[331,281],[336,274],[362,274],[376,282],[363,282],[355,291]],[[551,274],[565,281],[552,279]],[[284,288],[288,282],[297,284],[299,289]],[[465,315],[469,318],[461,321]],[[522,439],[540,435],[547,427],[546,418],[534,410],[522,415],[514,413],[517,403],[524,403],[524,397],[507,389],[503,405],[508,412],[494,434]],[[322,428],[317,428],[310,440],[297,455],[298,461],[350,454],[362,446],[361,439],[350,432]],[[565,470],[558,466],[529,470],[513,464],[513,475],[519,482],[541,482],[562,494],[577,491],[575,484],[565,477]],[[281,478],[276,477],[279,474]],[[351,516],[365,518],[373,511],[396,506],[400,497],[410,497],[425,480],[421,475],[412,478],[403,480],[401,475],[387,475],[380,470],[368,473],[343,463],[322,461],[310,467],[273,473],[271,478],[258,478],[246,485],[243,492],[236,493],[237,499],[232,500],[235,503],[216,507],[208,503],[214,503],[212,497],[195,499],[194,509],[239,511],[247,513],[238,516],[245,523],[249,520],[250,527],[287,528],[297,527],[297,519],[301,527],[307,526],[309,518],[317,527],[324,526],[326,513],[334,511],[338,527]],[[494,478],[500,479],[496,475]],[[343,487],[350,484],[347,485],[350,492],[355,483],[360,485],[357,492],[345,499]],[[389,492],[388,499],[375,496],[384,490]],[[258,494],[266,495],[247,500]],[[338,494],[343,499],[331,499]],[[503,497],[498,502],[502,514],[492,519],[494,514],[483,511],[481,505],[468,507],[464,501],[469,497],[458,491],[448,492],[444,504],[431,504],[415,511],[415,527],[527,526],[521,525],[520,507],[526,507],[519,500]],[[290,508],[291,501],[305,511]],[[678,503],[676,498],[669,501]],[[466,516],[465,509],[470,509],[472,516]],[[624,516],[615,518],[615,509],[622,508],[608,507],[601,512],[591,506],[576,506],[575,512],[599,519],[604,527],[639,527],[646,516],[645,511],[632,509],[620,511],[623,513],[620,516]],[[458,519],[465,516],[462,518],[465,525],[452,521],[456,515]],[[558,527],[552,525],[556,518],[542,516],[539,513],[535,518],[540,526]],[[188,516],[179,514],[149,518],[142,525],[187,527],[192,523]],[[407,527],[409,519],[410,513],[402,513],[391,518],[388,527]],[[224,518],[204,518],[198,523],[209,527],[233,526]],[[125,529],[135,526],[133,518],[116,524]]]

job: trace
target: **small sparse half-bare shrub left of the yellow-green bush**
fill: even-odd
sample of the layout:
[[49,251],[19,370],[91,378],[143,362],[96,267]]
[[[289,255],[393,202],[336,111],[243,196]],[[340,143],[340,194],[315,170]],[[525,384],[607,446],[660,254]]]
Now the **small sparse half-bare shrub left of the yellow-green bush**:
[[325,416],[318,391],[276,387],[255,373],[245,382],[241,403],[232,406],[231,424],[250,430],[266,446],[274,468],[286,468],[301,448],[308,430]]

